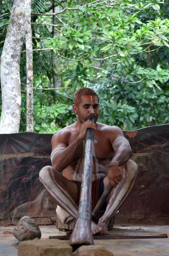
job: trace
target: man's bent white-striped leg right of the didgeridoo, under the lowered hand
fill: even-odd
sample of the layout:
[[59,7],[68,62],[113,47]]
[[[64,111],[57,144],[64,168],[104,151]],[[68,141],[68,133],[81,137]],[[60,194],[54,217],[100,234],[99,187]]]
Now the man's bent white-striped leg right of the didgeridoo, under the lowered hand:
[[[128,197],[137,175],[138,167],[137,164],[132,160],[127,161],[121,168],[123,169],[123,179],[119,185],[117,185],[117,187],[112,190],[106,211],[98,221],[98,225],[103,227],[103,232],[100,232],[101,235],[110,234],[107,230],[109,220],[113,215],[115,215],[117,210]],[[104,180],[108,183],[107,177],[105,177]]]

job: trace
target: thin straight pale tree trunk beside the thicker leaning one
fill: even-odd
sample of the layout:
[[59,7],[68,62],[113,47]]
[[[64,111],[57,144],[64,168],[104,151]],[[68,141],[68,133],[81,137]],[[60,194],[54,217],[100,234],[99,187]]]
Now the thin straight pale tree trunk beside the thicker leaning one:
[[26,29],[26,131],[34,131],[33,126],[33,56],[31,29],[31,0],[25,0],[25,29]]

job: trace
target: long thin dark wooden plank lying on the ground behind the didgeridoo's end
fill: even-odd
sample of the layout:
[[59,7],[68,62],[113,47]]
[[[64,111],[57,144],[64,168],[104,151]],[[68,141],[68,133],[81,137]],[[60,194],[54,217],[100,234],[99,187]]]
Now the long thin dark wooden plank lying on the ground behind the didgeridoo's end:
[[[106,240],[106,239],[152,239],[152,238],[168,238],[167,234],[127,234],[127,235],[95,235],[93,239],[95,240]],[[49,236],[49,239],[60,239],[60,240],[69,240],[70,235],[68,236]]]

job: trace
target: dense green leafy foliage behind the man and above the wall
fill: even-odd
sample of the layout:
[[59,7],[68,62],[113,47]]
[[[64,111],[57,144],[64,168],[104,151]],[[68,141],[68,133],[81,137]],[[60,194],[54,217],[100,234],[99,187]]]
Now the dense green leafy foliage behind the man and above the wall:
[[[81,87],[100,96],[100,122],[126,130],[169,122],[169,2],[54,0],[54,5],[57,12],[68,9],[54,17],[32,15],[34,23],[54,24],[32,24],[33,48],[54,49],[33,53],[34,131],[53,133],[73,123],[74,93]],[[51,8],[51,2],[32,0],[32,12]],[[0,19],[0,25],[8,22],[9,16]],[[6,31],[0,27],[2,41]],[[20,63],[26,84],[25,53]],[[54,87],[63,89],[38,90]],[[26,131],[22,94],[20,131]]]

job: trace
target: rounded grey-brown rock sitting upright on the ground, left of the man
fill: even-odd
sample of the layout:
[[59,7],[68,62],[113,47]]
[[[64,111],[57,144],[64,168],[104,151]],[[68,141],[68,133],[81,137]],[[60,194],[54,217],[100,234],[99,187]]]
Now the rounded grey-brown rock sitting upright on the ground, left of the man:
[[38,225],[29,216],[23,216],[13,231],[14,237],[19,241],[41,238]]

